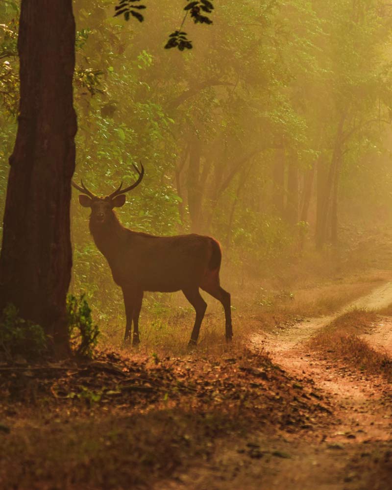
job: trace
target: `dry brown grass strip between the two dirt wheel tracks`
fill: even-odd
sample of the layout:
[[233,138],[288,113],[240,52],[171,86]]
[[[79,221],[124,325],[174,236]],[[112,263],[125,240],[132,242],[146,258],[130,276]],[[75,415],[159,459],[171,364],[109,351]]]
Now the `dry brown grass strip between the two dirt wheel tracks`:
[[311,339],[310,346],[336,361],[343,361],[361,371],[383,374],[390,380],[392,360],[359,337],[367,333],[376,320],[377,315],[373,311],[352,310],[321,329]]

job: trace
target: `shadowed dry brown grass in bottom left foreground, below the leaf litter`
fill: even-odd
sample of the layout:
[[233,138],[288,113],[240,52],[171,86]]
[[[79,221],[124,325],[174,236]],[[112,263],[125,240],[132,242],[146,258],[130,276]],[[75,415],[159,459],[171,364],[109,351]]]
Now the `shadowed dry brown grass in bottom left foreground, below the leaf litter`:
[[221,437],[239,432],[230,417],[183,410],[65,421],[17,428],[4,438],[1,488],[149,488],[194,458],[208,459]]

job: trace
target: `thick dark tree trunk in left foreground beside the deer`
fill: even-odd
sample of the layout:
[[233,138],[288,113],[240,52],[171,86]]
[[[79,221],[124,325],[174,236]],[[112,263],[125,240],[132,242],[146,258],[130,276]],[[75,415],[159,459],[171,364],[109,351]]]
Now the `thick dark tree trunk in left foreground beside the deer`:
[[18,39],[21,102],[9,159],[0,308],[13,303],[68,351],[75,25],[72,0],[22,0]]

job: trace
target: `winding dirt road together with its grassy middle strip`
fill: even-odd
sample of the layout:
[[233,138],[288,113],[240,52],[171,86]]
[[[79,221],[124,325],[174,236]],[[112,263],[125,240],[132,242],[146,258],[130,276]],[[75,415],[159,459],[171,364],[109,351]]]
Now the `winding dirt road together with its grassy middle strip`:
[[[328,401],[329,417],[301,432],[286,427],[270,435],[256,425],[244,439],[221,445],[208,464],[154,488],[392,489],[392,317],[373,312],[391,302],[389,282],[335,315],[254,335],[253,347],[267,351],[295,386],[313,386]],[[354,325],[365,357],[358,355],[358,345],[349,345],[341,358],[334,347],[336,331],[323,345],[329,348],[315,352],[312,339],[334,322],[346,343],[352,337],[346,324]],[[381,369],[372,369],[377,362],[368,362],[369,353]]]

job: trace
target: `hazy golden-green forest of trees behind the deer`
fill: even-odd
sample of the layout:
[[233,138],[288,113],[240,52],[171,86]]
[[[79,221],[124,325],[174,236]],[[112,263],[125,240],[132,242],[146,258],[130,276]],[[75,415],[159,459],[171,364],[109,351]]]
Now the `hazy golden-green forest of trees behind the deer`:
[[[75,0],[75,181],[105,195],[146,169],[118,213],[156,234],[211,234],[240,284],[347,232],[391,223],[392,8],[376,0],[216,2],[214,24],[164,49],[181,5],[146,22]],[[178,7],[178,8],[177,8]],[[19,2],[0,3],[0,213],[18,112]],[[117,322],[123,299],[72,206],[71,289]],[[230,271],[230,272],[229,272]],[[155,301],[159,294],[147,297]],[[122,322],[120,321],[120,324]]]

